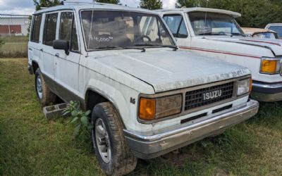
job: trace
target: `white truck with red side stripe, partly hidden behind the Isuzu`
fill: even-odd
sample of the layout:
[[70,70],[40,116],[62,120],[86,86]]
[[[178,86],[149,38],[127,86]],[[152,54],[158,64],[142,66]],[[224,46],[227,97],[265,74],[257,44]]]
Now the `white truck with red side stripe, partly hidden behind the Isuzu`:
[[246,37],[235,18],[240,13],[213,8],[159,11],[181,49],[249,68],[252,98],[282,100],[282,41]]

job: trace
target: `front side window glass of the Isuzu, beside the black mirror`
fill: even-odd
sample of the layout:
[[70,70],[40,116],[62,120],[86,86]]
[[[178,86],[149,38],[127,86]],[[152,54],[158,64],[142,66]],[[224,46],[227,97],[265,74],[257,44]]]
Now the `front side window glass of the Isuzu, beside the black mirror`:
[[71,51],[78,51],[78,35],[76,33],[73,12],[62,12],[59,39],[67,40],[71,44]]

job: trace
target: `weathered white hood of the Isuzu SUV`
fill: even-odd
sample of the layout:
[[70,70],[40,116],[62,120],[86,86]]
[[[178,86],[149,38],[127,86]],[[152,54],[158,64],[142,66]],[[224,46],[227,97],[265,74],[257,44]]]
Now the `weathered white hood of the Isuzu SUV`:
[[[172,49],[122,50],[93,56],[107,67],[152,85],[154,92],[192,87],[249,75],[250,70],[216,58]],[[111,78],[115,80],[114,75]],[[129,85],[130,86],[130,85]]]

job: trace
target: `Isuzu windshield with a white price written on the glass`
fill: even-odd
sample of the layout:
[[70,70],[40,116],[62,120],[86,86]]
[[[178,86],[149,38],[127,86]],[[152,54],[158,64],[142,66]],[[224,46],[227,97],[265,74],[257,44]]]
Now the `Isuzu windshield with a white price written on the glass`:
[[82,11],[88,51],[128,47],[175,46],[158,15],[129,11]]

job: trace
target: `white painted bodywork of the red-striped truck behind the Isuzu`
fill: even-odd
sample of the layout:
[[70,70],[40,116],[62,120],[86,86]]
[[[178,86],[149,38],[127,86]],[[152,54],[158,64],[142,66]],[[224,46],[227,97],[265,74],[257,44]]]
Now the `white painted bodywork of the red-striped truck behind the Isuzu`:
[[[274,54],[276,56],[282,55],[282,40],[235,36],[196,36],[187,15],[187,13],[191,11],[208,11],[228,14],[233,17],[240,16],[240,13],[212,8],[178,8],[159,11],[161,15],[178,13],[183,15],[185,18],[189,37],[187,39],[176,38],[178,46],[188,46],[188,48],[192,47],[193,49],[189,49],[189,51],[201,54],[202,56],[220,58],[230,63],[243,65],[251,70],[253,80],[260,82],[282,82],[281,75],[266,75],[259,73],[262,57],[274,58]],[[185,40],[186,43],[183,42],[183,40]],[[201,49],[205,51],[201,51]],[[271,50],[274,51],[274,54]]]

